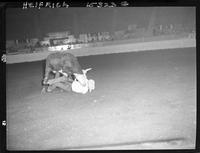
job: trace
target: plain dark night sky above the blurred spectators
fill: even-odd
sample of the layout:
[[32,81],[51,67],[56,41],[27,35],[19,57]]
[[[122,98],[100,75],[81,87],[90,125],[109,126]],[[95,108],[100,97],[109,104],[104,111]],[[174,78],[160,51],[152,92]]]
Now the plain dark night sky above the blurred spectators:
[[125,30],[130,24],[195,26],[195,7],[58,8],[6,10],[6,39],[42,38],[48,32],[80,33]]

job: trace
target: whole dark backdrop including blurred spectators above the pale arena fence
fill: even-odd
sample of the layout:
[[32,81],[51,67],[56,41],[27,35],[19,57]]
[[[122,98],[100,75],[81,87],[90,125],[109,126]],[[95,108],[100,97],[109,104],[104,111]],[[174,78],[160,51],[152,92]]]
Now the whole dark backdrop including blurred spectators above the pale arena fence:
[[117,40],[195,37],[195,28],[194,7],[8,8],[6,48],[7,53],[30,53],[52,51],[50,46],[67,50]]

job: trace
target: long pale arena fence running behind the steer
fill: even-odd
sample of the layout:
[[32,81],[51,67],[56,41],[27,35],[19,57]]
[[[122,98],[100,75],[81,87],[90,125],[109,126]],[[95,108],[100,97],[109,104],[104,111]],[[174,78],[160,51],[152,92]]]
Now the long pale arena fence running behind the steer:
[[[152,51],[161,49],[175,49],[196,47],[195,38],[180,38],[176,40],[156,40],[149,42],[137,42],[128,44],[115,44],[109,46],[86,47],[66,50],[75,56],[90,56],[100,54],[113,54],[125,52]],[[44,60],[52,51],[42,51],[37,53],[26,53],[17,55],[7,55],[7,64],[32,62]]]

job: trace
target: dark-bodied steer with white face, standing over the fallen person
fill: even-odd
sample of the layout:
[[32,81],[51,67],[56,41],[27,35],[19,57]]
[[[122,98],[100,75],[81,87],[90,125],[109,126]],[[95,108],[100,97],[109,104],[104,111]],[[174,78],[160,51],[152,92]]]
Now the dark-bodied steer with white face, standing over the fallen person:
[[[73,54],[66,52],[56,52],[47,56],[43,85],[47,84],[50,72],[54,72],[56,75],[58,75],[60,70],[62,70],[64,73],[67,73],[69,78],[71,77],[72,79],[72,76],[75,76],[75,78],[83,86],[86,85],[83,71],[78,62],[78,59]],[[43,87],[42,91],[46,91],[45,87]]]

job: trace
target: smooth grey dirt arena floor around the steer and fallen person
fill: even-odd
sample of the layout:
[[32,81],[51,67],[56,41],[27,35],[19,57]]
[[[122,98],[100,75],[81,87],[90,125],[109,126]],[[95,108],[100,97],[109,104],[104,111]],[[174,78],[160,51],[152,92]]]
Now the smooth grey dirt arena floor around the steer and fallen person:
[[78,57],[91,93],[41,94],[44,61],[7,64],[7,149],[194,149],[196,48]]

